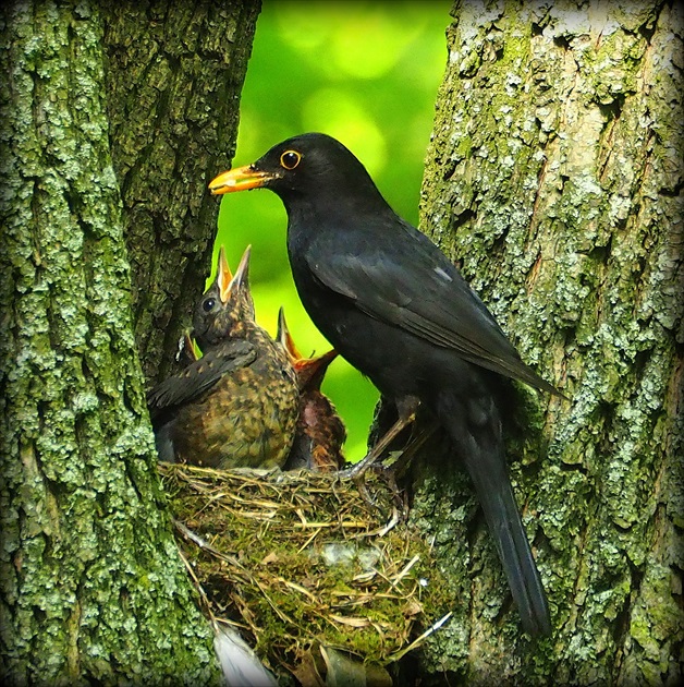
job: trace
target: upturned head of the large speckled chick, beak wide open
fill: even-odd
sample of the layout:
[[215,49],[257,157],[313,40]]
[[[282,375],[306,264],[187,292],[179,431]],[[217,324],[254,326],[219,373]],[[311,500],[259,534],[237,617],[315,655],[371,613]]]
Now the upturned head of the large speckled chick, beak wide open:
[[249,291],[249,254],[245,250],[235,274],[219,250],[216,278],[195,305],[194,335],[201,349],[229,337],[241,336],[246,323],[254,322],[254,301]]

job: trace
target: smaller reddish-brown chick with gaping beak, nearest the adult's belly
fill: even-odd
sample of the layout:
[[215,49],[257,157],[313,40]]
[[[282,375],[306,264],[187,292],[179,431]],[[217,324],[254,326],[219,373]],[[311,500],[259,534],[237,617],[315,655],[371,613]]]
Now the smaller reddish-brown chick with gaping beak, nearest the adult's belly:
[[292,340],[282,308],[278,313],[277,338],[288,352],[300,385],[300,418],[284,469],[334,472],[344,466],[342,444],[346,430],[330,399],[321,393],[320,385],[338,353],[331,350],[316,358],[304,358]]

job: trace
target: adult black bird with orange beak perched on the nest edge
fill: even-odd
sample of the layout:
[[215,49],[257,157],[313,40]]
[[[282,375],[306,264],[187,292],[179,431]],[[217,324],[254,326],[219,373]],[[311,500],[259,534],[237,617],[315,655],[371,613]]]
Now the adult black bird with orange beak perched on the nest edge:
[[494,373],[558,394],[554,387],[523,363],[456,267],[392,210],[339,141],[320,133],[289,138],[209,188],[266,188],[280,196],[292,274],[309,316],[400,417],[418,400],[437,415],[475,484],[524,629],[550,634],[508,475]]

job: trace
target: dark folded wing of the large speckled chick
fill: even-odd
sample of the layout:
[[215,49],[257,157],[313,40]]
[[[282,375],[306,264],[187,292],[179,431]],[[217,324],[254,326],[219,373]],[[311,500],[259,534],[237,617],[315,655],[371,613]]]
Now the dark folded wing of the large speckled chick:
[[256,355],[254,345],[243,339],[227,341],[209,351],[148,391],[147,406],[152,418],[163,409],[193,400],[224,374],[249,365]]

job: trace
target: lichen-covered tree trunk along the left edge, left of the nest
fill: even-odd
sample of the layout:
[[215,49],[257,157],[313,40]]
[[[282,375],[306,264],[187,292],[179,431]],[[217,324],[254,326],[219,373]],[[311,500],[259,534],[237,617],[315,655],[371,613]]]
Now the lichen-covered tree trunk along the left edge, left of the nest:
[[[2,12],[3,677],[216,683],[212,631],[156,473],[100,7],[11,3]],[[185,112],[193,107],[196,99]],[[200,219],[199,252],[213,230]]]

